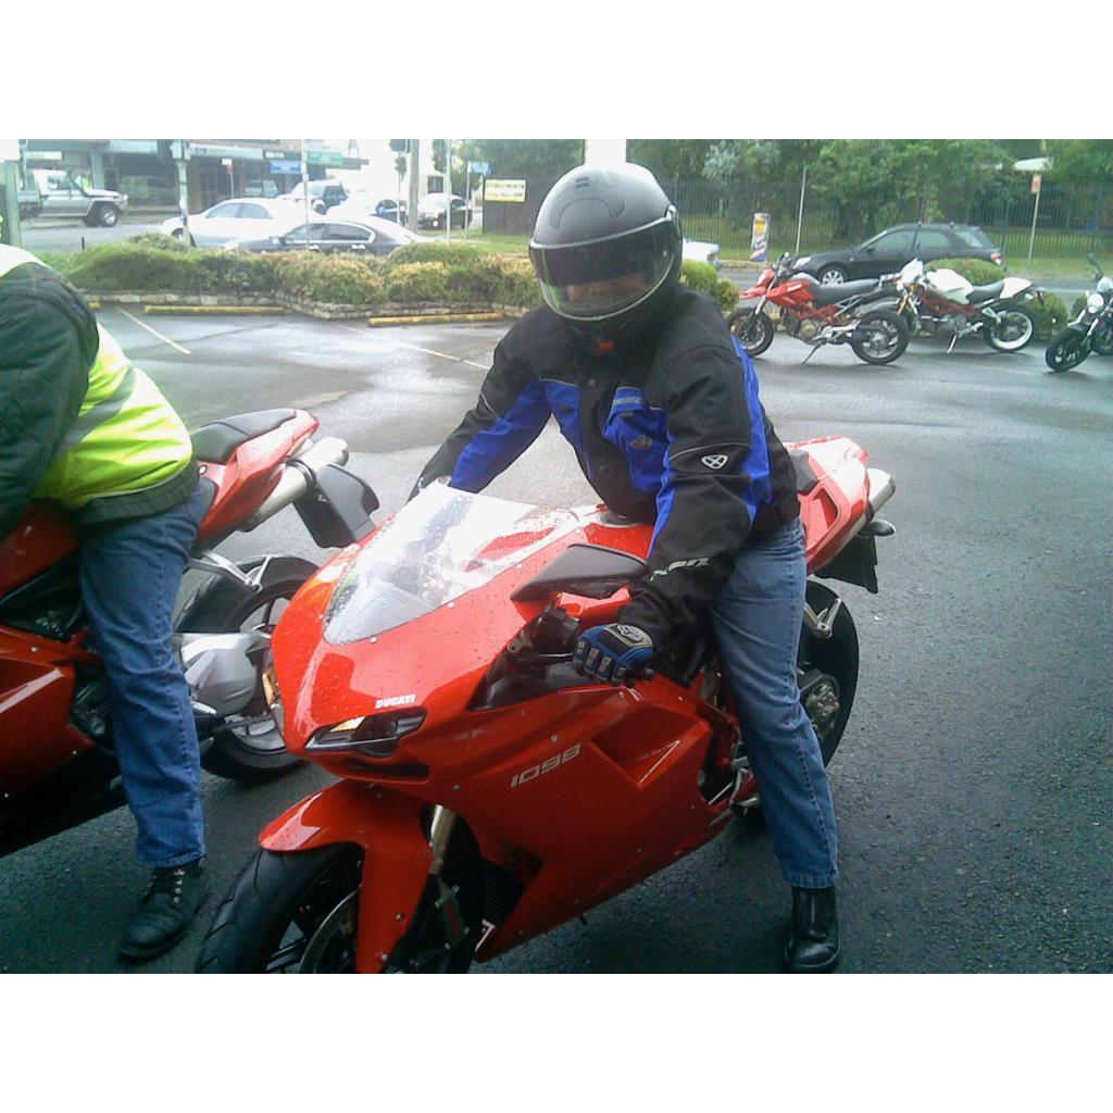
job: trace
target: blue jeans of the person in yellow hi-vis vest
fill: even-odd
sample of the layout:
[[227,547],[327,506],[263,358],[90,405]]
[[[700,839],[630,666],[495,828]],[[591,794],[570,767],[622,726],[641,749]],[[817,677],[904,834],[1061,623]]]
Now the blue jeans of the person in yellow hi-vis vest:
[[206,501],[198,486],[171,510],[80,544],[81,594],[108,673],[112,738],[144,866],[180,866],[205,854],[197,729],[170,637]]

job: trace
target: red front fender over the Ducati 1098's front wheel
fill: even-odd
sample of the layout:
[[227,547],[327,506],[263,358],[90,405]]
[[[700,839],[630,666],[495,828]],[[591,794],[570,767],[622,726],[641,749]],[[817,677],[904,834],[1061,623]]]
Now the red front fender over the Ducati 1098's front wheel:
[[356,969],[377,974],[408,930],[433,854],[422,826],[425,805],[374,785],[338,781],[268,824],[259,845],[296,854],[334,843],[363,848]]

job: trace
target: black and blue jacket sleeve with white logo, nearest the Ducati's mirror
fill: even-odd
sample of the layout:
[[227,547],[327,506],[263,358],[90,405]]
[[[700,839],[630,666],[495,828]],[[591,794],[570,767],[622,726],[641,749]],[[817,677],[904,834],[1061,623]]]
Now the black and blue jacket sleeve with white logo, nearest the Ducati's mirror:
[[765,413],[749,362],[707,344],[677,356],[664,382],[669,447],[650,572],[621,613],[658,646],[695,628],[770,498]]

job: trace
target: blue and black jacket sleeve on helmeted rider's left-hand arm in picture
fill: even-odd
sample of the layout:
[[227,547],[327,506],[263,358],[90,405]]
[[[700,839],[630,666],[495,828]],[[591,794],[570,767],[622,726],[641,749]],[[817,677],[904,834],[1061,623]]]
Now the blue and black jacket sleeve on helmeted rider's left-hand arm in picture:
[[451,486],[482,491],[538,439],[550,413],[512,328],[494,351],[475,406],[425,465],[413,493],[444,475]]

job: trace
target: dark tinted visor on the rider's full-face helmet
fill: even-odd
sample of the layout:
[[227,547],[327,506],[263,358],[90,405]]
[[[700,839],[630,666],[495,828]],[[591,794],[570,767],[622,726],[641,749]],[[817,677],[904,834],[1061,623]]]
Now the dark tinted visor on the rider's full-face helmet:
[[671,217],[646,228],[572,247],[530,245],[549,306],[563,317],[602,321],[649,297],[680,252]]

